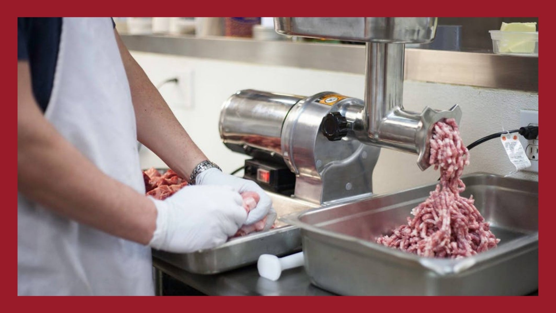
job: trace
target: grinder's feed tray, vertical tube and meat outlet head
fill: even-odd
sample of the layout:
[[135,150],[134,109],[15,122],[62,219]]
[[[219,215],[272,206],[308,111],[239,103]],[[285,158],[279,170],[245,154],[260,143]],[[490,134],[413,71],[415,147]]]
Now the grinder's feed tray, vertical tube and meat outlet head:
[[366,144],[417,154],[421,170],[430,166],[434,124],[461,117],[457,105],[445,111],[425,107],[421,113],[403,107],[405,43],[433,41],[436,23],[436,17],[274,18],[282,35],[365,42],[365,105],[351,128]]

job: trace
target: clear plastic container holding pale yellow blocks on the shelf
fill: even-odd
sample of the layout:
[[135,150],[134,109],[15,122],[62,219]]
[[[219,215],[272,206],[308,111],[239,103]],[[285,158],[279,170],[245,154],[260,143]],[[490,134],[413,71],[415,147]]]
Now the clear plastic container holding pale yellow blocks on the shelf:
[[539,56],[539,32],[489,32],[494,53],[499,55]]

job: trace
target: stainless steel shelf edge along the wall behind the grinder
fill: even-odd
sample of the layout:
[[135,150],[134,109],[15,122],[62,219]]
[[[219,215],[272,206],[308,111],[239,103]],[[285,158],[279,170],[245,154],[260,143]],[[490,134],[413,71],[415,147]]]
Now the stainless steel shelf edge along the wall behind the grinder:
[[[364,74],[365,46],[191,35],[122,35],[129,50]],[[406,48],[404,79],[538,92],[539,58]]]

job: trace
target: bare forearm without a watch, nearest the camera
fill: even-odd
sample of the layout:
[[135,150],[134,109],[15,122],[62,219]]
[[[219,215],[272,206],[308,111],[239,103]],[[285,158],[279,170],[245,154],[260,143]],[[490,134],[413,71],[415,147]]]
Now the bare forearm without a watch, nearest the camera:
[[18,62],[18,192],[61,216],[147,244],[156,227],[155,205],[102,173],[48,123],[28,76],[27,63]]

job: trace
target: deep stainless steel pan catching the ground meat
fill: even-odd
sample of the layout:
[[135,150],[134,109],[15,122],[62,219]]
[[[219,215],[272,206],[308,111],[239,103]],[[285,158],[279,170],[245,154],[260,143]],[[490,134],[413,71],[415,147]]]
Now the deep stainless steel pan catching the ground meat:
[[465,197],[501,239],[497,248],[454,259],[419,257],[373,238],[406,223],[434,184],[293,213],[305,269],[340,295],[525,295],[538,290],[538,182],[490,174],[464,177]]

